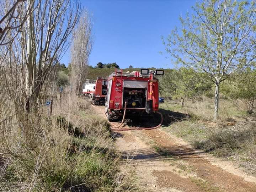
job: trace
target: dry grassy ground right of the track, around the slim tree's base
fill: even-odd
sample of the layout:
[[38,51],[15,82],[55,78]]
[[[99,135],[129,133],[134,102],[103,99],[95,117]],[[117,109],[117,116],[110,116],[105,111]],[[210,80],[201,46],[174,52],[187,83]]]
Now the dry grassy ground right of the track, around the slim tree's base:
[[211,100],[188,101],[184,108],[174,102],[160,104],[163,110],[189,114],[190,118],[177,119],[163,127],[181,137],[194,147],[217,157],[234,160],[239,166],[256,175],[256,124],[244,111],[237,109],[230,100],[221,100],[219,122],[212,121]]

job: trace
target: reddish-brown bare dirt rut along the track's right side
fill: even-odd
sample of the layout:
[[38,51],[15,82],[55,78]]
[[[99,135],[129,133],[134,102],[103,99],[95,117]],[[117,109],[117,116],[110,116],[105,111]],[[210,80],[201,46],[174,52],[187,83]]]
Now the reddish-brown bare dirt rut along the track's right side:
[[[215,191],[241,191],[255,192],[256,184],[247,182],[244,178],[231,174],[216,165],[212,165],[209,160],[203,158],[203,153],[185,145],[175,143],[162,131],[142,131],[143,135],[151,138],[160,148],[162,155],[175,157],[185,161],[192,167],[203,181],[212,186]],[[207,188],[204,188],[205,190]],[[208,189],[210,190],[210,189]]]

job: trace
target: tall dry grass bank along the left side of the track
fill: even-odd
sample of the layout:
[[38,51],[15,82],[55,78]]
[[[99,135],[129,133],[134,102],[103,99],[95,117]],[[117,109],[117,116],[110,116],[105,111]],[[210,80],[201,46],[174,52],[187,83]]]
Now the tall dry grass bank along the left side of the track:
[[131,191],[119,174],[108,123],[76,97],[30,114],[21,134],[0,141],[0,191]]

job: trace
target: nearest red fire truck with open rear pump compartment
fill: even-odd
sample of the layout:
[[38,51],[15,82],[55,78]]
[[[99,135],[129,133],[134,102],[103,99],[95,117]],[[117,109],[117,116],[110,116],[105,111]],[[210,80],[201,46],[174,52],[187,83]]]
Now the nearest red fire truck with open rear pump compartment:
[[158,79],[163,70],[123,72],[116,69],[108,79],[106,113],[109,121],[126,114],[150,115],[158,111]]

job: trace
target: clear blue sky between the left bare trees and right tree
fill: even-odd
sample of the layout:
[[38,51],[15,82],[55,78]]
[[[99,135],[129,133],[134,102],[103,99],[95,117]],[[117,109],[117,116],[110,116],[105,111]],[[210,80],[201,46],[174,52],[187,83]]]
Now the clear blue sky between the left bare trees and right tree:
[[[191,12],[196,0],[81,0],[93,15],[94,45],[89,64],[116,62],[121,68],[173,68],[161,36],[167,37],[179,16]],[[65,54],[61,62],[67,65]]]

